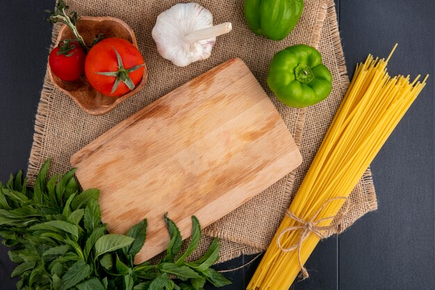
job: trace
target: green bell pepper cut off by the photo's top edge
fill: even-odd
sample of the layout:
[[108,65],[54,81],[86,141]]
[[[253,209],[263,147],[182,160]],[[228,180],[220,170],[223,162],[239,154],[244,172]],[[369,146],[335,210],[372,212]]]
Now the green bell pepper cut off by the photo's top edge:
[[295,28],[304,0],[245,0],[249,29],[271,40],[283,40]]

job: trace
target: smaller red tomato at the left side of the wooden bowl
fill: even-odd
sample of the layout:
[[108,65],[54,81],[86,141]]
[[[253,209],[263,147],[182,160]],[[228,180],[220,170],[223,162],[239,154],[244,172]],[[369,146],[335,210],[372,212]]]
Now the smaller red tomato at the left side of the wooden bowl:
[[85,51],[79,42],[60,42],[49,56],[51,72],[64,81],[75,81],[85,72]]

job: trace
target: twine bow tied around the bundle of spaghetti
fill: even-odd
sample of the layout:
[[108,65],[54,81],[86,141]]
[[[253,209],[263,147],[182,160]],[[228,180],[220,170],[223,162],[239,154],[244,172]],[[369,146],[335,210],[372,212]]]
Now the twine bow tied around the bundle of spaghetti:
[[[329,204],[329,202],[333,202],[334,200],[345,200],[345,204],[343,204],[344,210],[340,211],[335,216],[328,216],[326,218],[320,218],[316,220],[320,214],[320,211],[322,211],[322,209],[324,209],[327,206],[327,204]],[[332,234],[336,233],[336,229],[338,228],[338,225],[340,225],[340,223],[343,221],[344,216],[347,214],[347,211],[349,211],[349,205],[350,205],[349,200],[343,196],[339,196],[337,198],[330,198],[322,205],[322,207],[320,207],[320,209],[318,209],[318,211],[316,211],[313,214],[313,216],[311,216],[311,218],[308,221],[303,220],[298,216],[295,216],[295,214],[293,214],[288,210],[286,211],[286,216],[297,221],[299,225],[293,225],[291,227],[287,227],[286,229],[284,229],[277,238],[277,245],[283,252],[291,252],[297,249],[297,258],[299,259],[299,266],[301,267],[302,280],[309,277],[308,271],[306,271],[306,268],[304,267],[304,264],[302,264],[301,261],[302,243],[304,243],[304,241],[309,237],[311,233],[319,236],[320,239],[325,239],[328,236],[331,236]],[[333,222],[328,226],[320,226],[319,224],[325,220],[333,220]],[[281,244],[281,239],[284,236],[284,234],[293,231],[301,232],[299,240],[295,244],[285,248],[285,246]]]

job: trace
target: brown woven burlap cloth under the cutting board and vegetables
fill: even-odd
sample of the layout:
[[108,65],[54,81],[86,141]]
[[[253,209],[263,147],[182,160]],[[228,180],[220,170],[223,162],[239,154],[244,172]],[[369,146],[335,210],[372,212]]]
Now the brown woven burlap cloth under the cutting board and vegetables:
[[[306,0],[302,18],[293,32],[281,42],[254,35],[245,24],[243,0],[200,0],[213,13],[215,24],[232,22],[233,31],[217,39],[211,58],[188,67],[176,67],[156,51],[151,38],[156,17],[176,0],[69,0],[71,10],[79,15],[113,16],[123,19],[136,33],[139,49],[149,70],[147,86],[137,95],[101,116],[83,113],[69,97],[60,92],[46,76],[35,121],[35,135],[28,162],[28,178],[35,180],[40,166],[51,157],[51,172],[69,170],[69,158],[83,146],[125,118],[190,79],[233,57],[245,61],[268,93],[302,152],[304,162],[294,172],[270,186],[242,207],[204,229],[199,252],[211,242],[211,236],[221,239],[220,261],[242,254],[254,254],[267,248],[285,209],[302,182],[306,170],[342,99],[349,79],[333,0]],[[54,26],[56,40],[59,25]],[[309,108],[289,108],[281,104],[266,84],[272,56],[289,45],[304,43],[318,47],[333,76],[333,90],[328,99]],[[359,217],[377,208],[375,188],[370,170],[350,195],[352,208],[337,232],[343,231]]]

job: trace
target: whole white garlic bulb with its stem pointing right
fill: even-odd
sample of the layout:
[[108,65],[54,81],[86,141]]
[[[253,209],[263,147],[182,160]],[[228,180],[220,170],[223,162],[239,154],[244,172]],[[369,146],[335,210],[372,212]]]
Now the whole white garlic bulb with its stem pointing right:
[[158,15],[152,36],[158,53],[185,67],[211,55],[216,37],[231,31],[231,23],[213,26],[213,15],[198,3],[179,3]]

